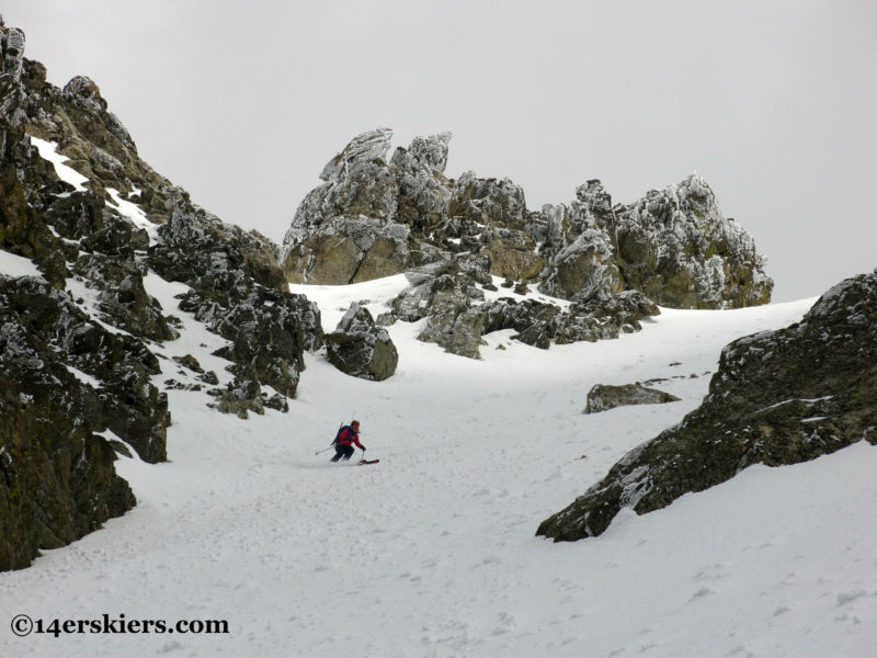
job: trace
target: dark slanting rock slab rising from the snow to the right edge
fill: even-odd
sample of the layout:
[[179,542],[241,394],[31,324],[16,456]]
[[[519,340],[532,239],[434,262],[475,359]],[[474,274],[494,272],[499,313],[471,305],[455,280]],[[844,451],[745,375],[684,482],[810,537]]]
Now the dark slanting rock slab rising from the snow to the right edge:
[[703,405],[538,534],[596,536],[623,507],[642,514],[751,464],[796,464],[862,440],[877,445],[877,274],[834,286],[797,325],[726,347]]

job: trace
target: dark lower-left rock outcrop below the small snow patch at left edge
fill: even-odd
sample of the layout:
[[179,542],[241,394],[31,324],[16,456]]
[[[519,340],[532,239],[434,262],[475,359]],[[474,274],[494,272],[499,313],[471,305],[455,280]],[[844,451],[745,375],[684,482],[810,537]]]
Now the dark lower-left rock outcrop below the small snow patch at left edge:
[[[92,340],[112,361],[88,358]],[[100,378],[124,370],[133,385],[151,386],[145,365],[111,341],[46,282],[0,276],[0,570],[26,567],[39,548],[68,544],[134,506],[114,450],[94,432],[150,426],[135,447],[163,458],[170,419],[155,387],[146,395],[158,408],[147,419],[70,371]]]

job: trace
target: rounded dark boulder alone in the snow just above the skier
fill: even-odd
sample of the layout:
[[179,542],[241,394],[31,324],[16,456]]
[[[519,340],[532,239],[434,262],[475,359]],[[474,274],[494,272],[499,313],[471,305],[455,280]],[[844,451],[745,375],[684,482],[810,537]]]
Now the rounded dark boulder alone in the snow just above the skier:
[[351,304],[338,328],[326,337],[329,362],[340,371],[381,382],[396,372],[399,354],[387,330],[364,306]]

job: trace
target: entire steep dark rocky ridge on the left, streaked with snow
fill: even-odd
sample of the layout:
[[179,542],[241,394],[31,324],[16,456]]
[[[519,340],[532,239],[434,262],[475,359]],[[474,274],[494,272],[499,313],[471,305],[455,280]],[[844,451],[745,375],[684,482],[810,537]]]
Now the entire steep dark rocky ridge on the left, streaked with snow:
[[[287,410],[303,352],[323,344],[273,242],[192,203],[140,159],[92,80],[58,89],[24,47],[0,25],[0,249],[42,274],[0,275],[0,570],[130,509],[115,452],[167,458],[169,394]],[[150,277],[184,284],[175,308]],[[227,372],[190,355],[184,382],[162,376],[180,313],[226,339]]]

